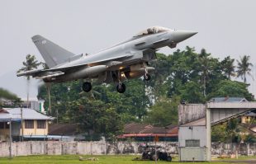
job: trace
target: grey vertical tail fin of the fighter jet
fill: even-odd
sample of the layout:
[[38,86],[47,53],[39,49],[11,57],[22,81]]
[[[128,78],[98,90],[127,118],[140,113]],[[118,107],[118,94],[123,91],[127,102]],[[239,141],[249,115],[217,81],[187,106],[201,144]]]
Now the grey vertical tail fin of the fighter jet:
[[53,68],[60,63],[64,63],[67,59],[75,55],[40,35],[33,36],[32,41],[35,43],[49,68]]

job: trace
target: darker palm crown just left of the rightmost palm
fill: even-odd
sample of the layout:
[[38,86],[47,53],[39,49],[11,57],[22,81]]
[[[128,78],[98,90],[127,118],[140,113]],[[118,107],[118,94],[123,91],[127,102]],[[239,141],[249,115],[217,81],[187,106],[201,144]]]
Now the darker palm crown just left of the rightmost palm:
[[220,67],[224,74],[230,79],[231,76],[235,76],[235,59],[230,59],[230,56],[225,57],[224,60],[220,62]]

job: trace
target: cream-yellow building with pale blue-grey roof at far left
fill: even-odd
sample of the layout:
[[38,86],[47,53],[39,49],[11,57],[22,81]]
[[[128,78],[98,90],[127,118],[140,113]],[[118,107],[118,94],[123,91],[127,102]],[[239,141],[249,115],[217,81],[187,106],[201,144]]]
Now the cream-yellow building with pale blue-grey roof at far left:
[[0,110],[0,140],[8,140],[10,123],[13,140],[44,139],[48,135],[48,124],[52,119],[54,118],[28,108],[3,108]]

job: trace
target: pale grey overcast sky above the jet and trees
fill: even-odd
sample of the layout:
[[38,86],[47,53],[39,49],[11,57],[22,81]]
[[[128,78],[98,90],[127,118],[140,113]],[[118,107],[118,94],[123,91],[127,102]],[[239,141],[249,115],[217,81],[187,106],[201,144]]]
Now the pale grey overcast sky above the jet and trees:
[[[0,0],[0,87],[26,97],[25,78],[15,72],[26,54],[43,61],[31,41],[37,34],[74,54],[92,54],[148,26],[194,30],[198,34],[176,49],[160,52],[172,54],[189,45],[220,59],[250,55],[256,65],[255,7],[254,0]],[[37,83],[31,87],[33,97]],[[254,83],[250,91],[255,94]]]

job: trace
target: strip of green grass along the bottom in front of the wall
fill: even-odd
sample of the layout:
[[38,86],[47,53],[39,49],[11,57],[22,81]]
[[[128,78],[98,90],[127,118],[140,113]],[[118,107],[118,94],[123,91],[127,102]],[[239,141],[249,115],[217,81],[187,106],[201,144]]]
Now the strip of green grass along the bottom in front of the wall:
[[[95,163],[95,164],[154,164],[152,161],[132,161],[133,158],[139,157],[139,156],[123,156],[123,155],[108,155],[108,156],[81,156],[81,157],[97,157],[98,161],[79,161],[78,160],[79,155],[64,155],[64,156],[27,156],[27,157],[13,157],[11,160],[9,160],[7,157],[1,157],[0,163],[19,163],[19,164],[37,164],[37,163]],[[251,157],[250,157],[251,158]],[[253,157],[254,158],[254,157]],[[242,159],[242,158],[241,158]],[[243,158],[244,159],[244,158]],[[247,159],[247,158],[245,158]],[[178,160],[176,158],[176,160]],[[188,162],[158,162],[161,164],[178,164],[178,163],[188,163]],[[193,162],[193,164],[202,163],[206,164],[209,162]],[[227,164],[227,162],[218,162],[214,161],[211,162],[214,164]]]

